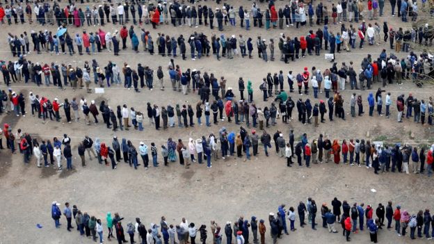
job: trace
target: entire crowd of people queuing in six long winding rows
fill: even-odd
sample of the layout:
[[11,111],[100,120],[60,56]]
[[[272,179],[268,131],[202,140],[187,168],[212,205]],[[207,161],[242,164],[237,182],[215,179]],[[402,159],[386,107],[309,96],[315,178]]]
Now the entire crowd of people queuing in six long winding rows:
[[[330,135],[323,136],[322,134],[318,138],[308,140],[305,133],[298,141],[294,130],[291,130],[288,140],[285,140],[280,129],[276,128],[273,135],[268,134],[266,130],[269,131],[271,127],[275,127],[280,117],[282,117],[282,124],[296,122],[295,116],[292,115],[294,108],[298,111],[298,122],[312,123],[314,127],[319,127],[319,122],[325,122],[324,116],[327,114],[330,122],[333,121],[334,116],[345,120],[344,108],[348,108],[348,105],[351,117],[362,116],[364,104],[368,105],[369,116],[374,115],[376,108],[378,116],[385,115],[387,118],[394,110],[390,106],[394,107],[393,104],[396,104],[397,122],[402,122],[403,117],[407,119],[414,117],[414,122],[419,123],[420,121],[424,126],[431,126],[434,116],[432,97],[416,98],[410,93],[406,98],[404,95],[399,95],[396,102],[392,102],[391,92],[383,89],[389,84],[401,84],[403,81],[413,81],[418,86],[423,86],[420,80],[425,79],[426,76],[432,76],[433,58],[426,53],[418,56],[412,51],[412,47],[417,44],[431,45],[434,39],[433,26],[424,24],[417,28],[413,26],[412,29],[404,30],[403,27],[392,28],[387,22],[380,22],[377,19],[383,17],[385,6],[383,0],[341,0],[333,3],[331,8],[329,3],[327,3],[328,6],[323,6],[323,3],[314,6],[315,3],[305,4],[294,0],[285,6],[276,6],[280,4],[275,4],[271,0],[268,1],[268,7],[265,10],[261,10],[257,3],[252,3],[250,9],[243,8],[243,6],[231,6],[228,2],[215,9],[206,6],[206,2],[193,5],[195,1],[191,0],[190,3],[191,6],[184,1],[179,3],[176,0],[173,3],[159,1],[147,4],[142,1],[125,1],[124,3],[102,3],[91,7],[84,7],[83,1],[81,5],[70,2],[67,6],[61,6],[61,3],[56,1],[53,3],[28,1],[0,4],[1,24],[37,22],[42,26],[46,24],[58,26],[56,33],[42,29],[40,31],[31,30],[30,35],[27,31],[8,33],[8,46],[17,60],[0,62],[3,81],[9,87],[8,91],[0,92],[0,114],[8,113],[10,114],[8,116],[25,117],[29,114],[26,110],[29,110],[33,116],[42,119],[44,123],[49,118],[57,122],[64,122],[64,124],[84,120],[86,125],[99,124],[101,114],[106,127],[113,131],[129,129],[143,131],[147,124],[144,122],[145,115],[149,120],[149,127],[155,127],[156,130],[166,130],[175,126],[180,128],[200,126],[202,125],[202,114],[205,119],[203,124],[207,127],[211,127],[212,124],[216,127],[219,122],[232,121],[241,125],[239,131],[229,131],[220,124],[220,129],[215,135],[209,133],[197,139],[189,138],[188,143],[184,143],[182,139],[168,138],[163,143],[160,140],[145,140],[135,145],[127,138],[120,140],[117,136],[109,140],[95,138],[95,141],[85,136],[77,143],[77,154],[82,167],[86,167],[88,161],[97,158],[98,163],[111,165],[113,170],[119,166],[118,163],[121,161],[127,163],[131,168],[138,169],[141,165],[138,158],[140,155],[146,170],[150,168],[151,159],[153,167],[159,167],[160,162],[169,166],[178,161],[184,168],[189,168],[193,167],[196,162],[202,164],[206,161],[207,167],[211,168],[212,163],[218,162],[220,158],[227,161],[231,157],[246,156],[246,160],[250,160],[251,156],[262,154],[259,152],[259,146],[262,146],[266,156],[271,154],[271,148],[274,147],[275,153],[287,162],[288,167],[293,167],[295,163],[293,160],[296,160],[298,166],[305,165],[308,168],[311,167],[311,163],[316,165],[332,160],[334,163],[359,167],[365,165],[368,169],[372,168],[376,174],[389,171],[406,174],[426,172],[428,177],[431,177],[434,145],[420,148],[412,147],[409,143],[376,145],[369,139],[330,140]],[[411,17],[411,21],[416,23],[419,12],[428,10],[426,1],[422,1],[422,6],[418,6],[417,1],[407,0],[391,0],[389,3],[392,17],[395,15],[395,6],[397,6],[397,15],[403,22],[407,22],[407,17]],[[220,1],[217,0],[217,4],[220,4]],[[200,31],[189,31],[190,34],[185,37],[184,35],[170,37],[162,33],[163,24],[186,27],[209,26],[210,29],[214,29],[214,19],[216,19],[216,28],[222,33],[211,35],[211,37]],[[250,26],[250,21],[252,21],[252,26]],[[106,23],[118,25],[120,28],[115,29],[113,33],[104,31]],[[150,29],[146,27],[148,24],[152,24],[152,29],[158,29],[159,32],[147,31]],[[313,27],[314,24],[318,26],[317,29]],[[330,31],[329,26],[332,24],[339,24],[339,31]],[[73,26],[77,29],[73,29]],[[95,31],[90,31],[92,26]],[[234,26],[240,26],[247,31],[250,28],[265,28],[266,30],[282,29],[284,32],[283,30],[301,28],[307,33],[300,38],[284,33],[277,38],[269,35],[252,38],[241,34],[236,36],[223,33],[234,30]],[[83,30],[79,33],[77,30],[81,29]],[[269,72],[262,83],[255,83],[255,85],[250,79],[245,83],[243,77],[240,77],[239,97],[234,95],[235,89],[226,85],[225,77],[221,76],[218,79],[216,74],[207,72],[202,74],[200,70],[181,68],[175,65],[173,59],[182,56],[183,60],[186,58],[196,60],[210,56],[210,54],[218,60],[220,58],[254,58],[257,55],[265,62],[279,59],[288,63],[289,60],[305,58],[307,55],[319,56],[325,51],[335,54],[342,50],[351,51],[357,47],[363,49],[365,40],[369,45],[389,42],[389,48],[395,53],[402,51],[408,53],[408,56],[400,59],[394,53],[387,55],[386,49],[383,49],[378,58],[373,58],[369,54],[358,68],[352,61],[342,62],[338,67],[334,55],[331,60],[332,67],[323,72],[317,67],[305,67],[294,74],[292,70],[285,74],[282,70],[274,74]],[[276,45],[275,42],[277,42]],[[154,51],[155,46],[157,51]],[[128,51],[128,48],[132,51]],[[15,83],[24,80],[24,83],[32,82],[37,86],[43,86],[43,84],[58,86],[62,90],[69,87],[73,90],[82,89],[86,86],[88,93],[92,92],[93,86],[101,88],[123,86],[128,90],[133,88],[135,92],[154,89],[153,67],[141,63],[137,67],[131,67],[128,63],[120,65],[111,61],[107,65],[100,65],[96,59],[93,59],[91,62],[86,60],[83,67],[73,67],[65,63],[61,65],[54,62],[51,64],[33,63],[28,59],[31,56],[29,54],[42,54],[44,51],[57,55],[69,53],[71,56],[77,51],[81,56],[97,54],[104,50],[113,51],[115,56],[121,53],[138,53],[139,50],[150,55],[169,56],[172,59],[168,70],[163,70],[162,66],[154,67],[159,88],[183,92],[184,95],[194,95],[198,91],[200,96],[198,103],[172,105],[169,102],[167,106],[160,106],[148,102],[145,113],[144,110],[142,112],[140,108],[127,106],[127,104],[109,106],[107,101],[100,101],[97,105],[93,100],[88,104],[85,97],[78,99],[74,96],[71,96],[72,99],[58,99],[57,97],[52,99],[33,92],[26,95],[12,88]],[[288,83],[287,89],[284,88],[285,79]],[[166,88],[168,80],[170,83]],[[344,105],[344,97],[340,92],[346,89],[347,83],[351,86],[351,90],[369,90],[368,97],[364,98],[360,93],[353,93],[349,103]],[[375,90],[373,86],[383,88]],[[246,97],[244,97],[245,90],[247,90]],[[258,107],[253,99],[255,90],[262,92],[261,100],[269,101],[270,99],[271,104],[263,108]],[[312,94],[314,99],[303,100],[303,95]],[[28,104],[30,108],[27,108]],[[383,113],[383,106],[385,106],[385,113]],[[62,108],[62,116],[64,115],[65,119],[61,117]],[[71,108],[74,117],[72,117]],[[211,114],[213,115],[212,121]],[[6,148],[10,149],[12,154],[19,151],[24,157],[24,163],[30,163],[31,158],[34,157],[39,168],[42,166],[49,168],[56,163],[56,169],[60,172],[63,170],[63,161],[66,161],[67,170],[76,168],[72,161],[76,153],[72,152],[72,139],[67,134],[60,139],[54,137],[51,143],[51,140],[33,138],[31,131],[28,133],[21,129],[15,131],[9,124],[3,124],[3,130],[0,131],[0,149],[3,149],[3,136],[6,140]],[[86,152],[89,159],[86,157]],[[60,226],[59,220],[61,215],[64,215],[67,220],[67,230],[70,231],[74,229],[71,225],[72,218],[74,218],[81,235],[92,236],[94,241],[97,241],[97,235],[99,235],[99,243],[103,243],[102,220],[86,212],[82,213],[75,205],[70,209],[70,205],[65,203],[63,212],[58,206],[57,202],[53,202],[51,206],[51,215],[56,227]],[[294,226],[296,213],[298,213],[300,227],[306,225],[305,214],[307,214],[309,224],[312,229],[316,229],[315,201],[309,199],[306,204],[300,202],[296,209],[297,211],[291,206],[286,210],[282,204],[277,213],[268,215],[269,232],[273,243],[276,243],[278,238],[282,238],[282,231],[285,234],[289,234],[288,230],[296,231]],[[344,213],[342,215],[341,209]],[[434,236],[434,230],[430,235],[430,225],[434,229],[434,216],[431,217],[428,209],[424,212],[417,212],[417,215],[410,215],[406,210],[401,212],[399,205],[393,211],[392,202],[389,202],[387,206],[378,204],[376,216],[377,218],[374,219],[373,205],[367,205],[365,209],[364,203],[354,203],[351,207],[347,201],[341,203],[337,198],[332,201],[330,209],[326,203],[321,206],[323,227],[335,233],[337,232],[335,222],[339,221],[346,241],[350,241],[351,233],[356,234],[357,231],[364,229],[365,218],[371,241],[374,243],[377,242],[378,229],[383,229],[385,218],[387,229],[392,228],[392,221],[395,220],[394,227],[399,236],[405,236],[407,227],[410,227],[410,238],[415,238],[416,230],[417,236],[422,238],[422,229],[426,238],[431,239]],[[107,235],[109,240],[114,238],[114,230],[118,243],[127,242],[124,237],[122,220],[123,218],[120,218],[118,213],[115,213],[114,218],[111,217],[111,213],[107,214],[106,227],[109,230]],[[287,228],[287,221],[290,222],[290,228]],[[249,243],[249,232],[251,231],[253,238],[250,237],[250,239],[253,239],[253,243],[259,243],[260,239],[264,244],[266,234],[264,222],[255,216],[252,216],[250,222],[241,216],[233,226],[232,222],[227,222],[224,227],[227,243],[232,243],[232,240],[239,244]],[[357,222],[359,229],[357,229]],[[161,234],[159,228],[161,228]],[[257,229],[259,229],[259,236]],[[173,244],[176,243],[176,239],[179,243],[188,243],[190,240],[193,244],[196,235],[200,236],[201,243],[206,243],[207,240],[206,225],[197,228],[193,223],[188,224],[185,218],[179,225],[174,226],[169,225],[166,218],[162,217],[160,225],[152,223],[149,229],[140,222],[140,218],[136,218],[134,224],[128,222],[127,233],[131,243],[134,243],[134,238],[136,238],[138,241],[141,240],[141,243],[148,244],[162,243],[162,241],[165,244],[169,241]],[[222,242],[223,227],[220,227],[214,220],[211,221],[209,233],[213,243]]]

